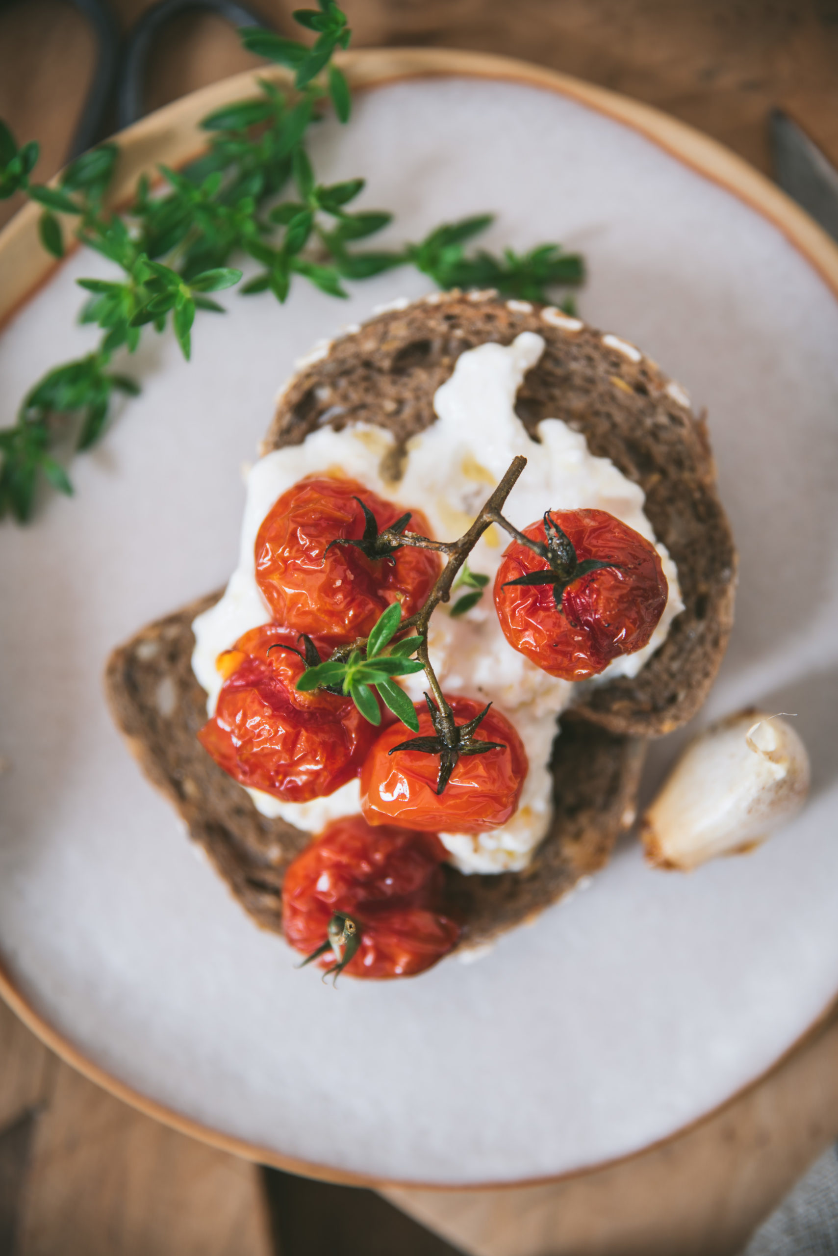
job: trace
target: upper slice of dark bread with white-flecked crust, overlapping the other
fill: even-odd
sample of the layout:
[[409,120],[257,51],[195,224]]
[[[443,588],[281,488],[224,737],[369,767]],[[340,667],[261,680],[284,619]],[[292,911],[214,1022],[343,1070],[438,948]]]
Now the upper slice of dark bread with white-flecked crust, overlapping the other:
[[[434,422],[434,392],[460,353],[537,332],[546,347],[518,393],[524,426],[532,433],[542,418],[565,420],[592,453],[611,458],[640,485],[685,603],[636,677],[581,687],[575,708],[612,732],[657,737],[704,703],[733,627],[736,553],[706,425],[667,392],[672,381],[651,359],[634,350],[639,360],[632,360],[595,328],[568,333],[548,322],[551,308],[547,318],[544,309],[499,301],[492,293],[447,293],[379,314],[292,377],[262,451],[299,445],[324,423],[340,428],[359,421],[388,428],[403,446]],[[396,453],[391,462],[398,461]],[[398,479],[398,466],[389,470]]]

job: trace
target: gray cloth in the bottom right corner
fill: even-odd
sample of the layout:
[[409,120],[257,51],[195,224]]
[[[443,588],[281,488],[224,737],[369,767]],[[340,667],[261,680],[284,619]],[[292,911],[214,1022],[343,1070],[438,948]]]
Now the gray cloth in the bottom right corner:
[[741,1256],[838,1256],[838,1145],[815,1161]]

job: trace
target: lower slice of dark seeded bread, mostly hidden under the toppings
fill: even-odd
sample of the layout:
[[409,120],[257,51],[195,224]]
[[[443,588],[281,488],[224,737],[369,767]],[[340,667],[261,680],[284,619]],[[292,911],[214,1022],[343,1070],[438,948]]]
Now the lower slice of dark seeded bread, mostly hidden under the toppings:
[[[233,897],[262,928],[282,931],[282,878],[310,842],[260,815],[210,759],[196,734],[206,693],[192,673],[192,620],[218,594],[148,624],[110,654],[105,693],[141,767],[173,804]],[[553,824],[522,873],[464,877],[447,869],[447,901],[463,922],[460,948],[492,942],[607,863],[635,816],[645,742],[570,713],[553,751]]]

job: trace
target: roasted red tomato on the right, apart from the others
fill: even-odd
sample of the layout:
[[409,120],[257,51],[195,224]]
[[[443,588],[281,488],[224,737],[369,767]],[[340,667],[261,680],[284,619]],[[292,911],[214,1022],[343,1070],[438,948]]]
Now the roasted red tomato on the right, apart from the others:
[[[509,644],[551,676],[582,681],[602,672],[621,654],[649,644],[664,614],[669,587],[655,546],[605,510],[553,510],[551,517],[570,538],[578,563],[600,559],[601,568],[565,589],[556,607],[552,584],[506,585],[547,566],[543,558],[513,541],[494,582],[494,604]],[[523,529],[544,541],[544,524]]]

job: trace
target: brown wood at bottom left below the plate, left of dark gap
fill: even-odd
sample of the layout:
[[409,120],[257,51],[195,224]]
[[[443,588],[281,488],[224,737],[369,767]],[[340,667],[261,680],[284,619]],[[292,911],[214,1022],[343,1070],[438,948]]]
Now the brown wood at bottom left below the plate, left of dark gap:
[[143,1117],[0,1004],[4,1256],[271,1256],[256,1168]]

